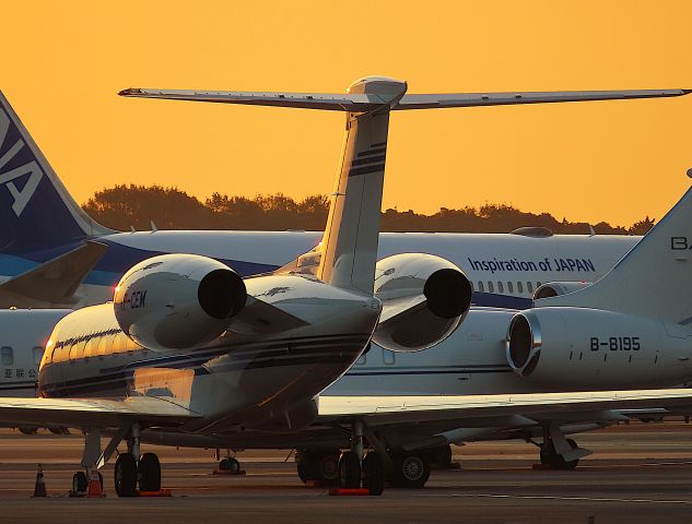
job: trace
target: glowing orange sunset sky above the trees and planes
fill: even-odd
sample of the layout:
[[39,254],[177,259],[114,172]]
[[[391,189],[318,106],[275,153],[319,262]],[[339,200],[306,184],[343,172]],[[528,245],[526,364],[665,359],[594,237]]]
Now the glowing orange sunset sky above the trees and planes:
[[[79,202],[116,183],[330,192],[344,116],[126,99],[125,87],[409,93],[692,88],[692,2],[2,2],[0,90]],[[690,186],[692,95],[392,115],[385,207],[660,218]]]

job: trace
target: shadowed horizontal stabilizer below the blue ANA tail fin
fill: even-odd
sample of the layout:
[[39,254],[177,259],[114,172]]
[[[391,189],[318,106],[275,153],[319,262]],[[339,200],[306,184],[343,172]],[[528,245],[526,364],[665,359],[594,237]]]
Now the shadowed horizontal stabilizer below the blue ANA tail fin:
[[108,250],[104,243],[87,241],[10,281],[0,284],[0,307],[26,308],[47,303],[73,303],[84,277]]

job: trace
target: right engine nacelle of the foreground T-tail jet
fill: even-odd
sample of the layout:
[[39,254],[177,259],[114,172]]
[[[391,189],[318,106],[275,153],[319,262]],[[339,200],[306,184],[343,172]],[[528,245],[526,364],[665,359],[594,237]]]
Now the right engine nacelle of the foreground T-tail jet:
[[444,341],[471,306],[471,284],[451,262],[402,253],[377,262],[375,296],[383,312],[373,342],[392,352],[417,352]]

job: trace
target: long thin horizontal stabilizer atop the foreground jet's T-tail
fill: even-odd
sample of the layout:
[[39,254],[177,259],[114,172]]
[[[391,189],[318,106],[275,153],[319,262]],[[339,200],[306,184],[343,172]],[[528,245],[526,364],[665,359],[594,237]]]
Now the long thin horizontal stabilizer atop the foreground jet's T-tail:
[[444,109],[449,107],[661,98],[682,96],[691,92],[692,90],[625,90],[424,94],[403,95],[401,99],[394,103],[394,106],[391,106],[390,100],[377,94],[361,93],[326,94],[129,88],[121,91],[119,95],[138,98],[164,98],[172,100],[214,102],[219,104],[247,104],[256,106],[366,112],[386,105],[390,106],[391,110]]

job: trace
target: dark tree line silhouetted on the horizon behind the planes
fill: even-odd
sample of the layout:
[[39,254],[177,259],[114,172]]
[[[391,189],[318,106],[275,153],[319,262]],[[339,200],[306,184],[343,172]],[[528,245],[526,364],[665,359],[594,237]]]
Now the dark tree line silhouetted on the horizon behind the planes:
[[[255,198],[213,193],[203,203],[177,188],[115,186],[97,191],[84,211],[104,226],[129,230],[245,229],[321,230],[327,221],[329,196],[315,194],[301,201],[282,193]],[[549,213],[526,213],[507,204],[441,207],[432,215],[389,209],[382,214],[383,231],[508,233],[524,226],[540,226],[555,234],[588,234],[589,224],[558,221]],[[643,235],[654,225],[648,216],[630,227],[594,225],[599,235]]]

